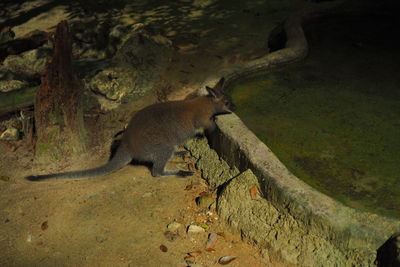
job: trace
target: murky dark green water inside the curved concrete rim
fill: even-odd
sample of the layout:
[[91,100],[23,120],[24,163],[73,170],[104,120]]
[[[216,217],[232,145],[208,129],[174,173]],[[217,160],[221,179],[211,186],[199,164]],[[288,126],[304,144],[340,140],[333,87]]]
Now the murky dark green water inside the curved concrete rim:
[[400,41],[390,18],[307,25],[302,62],[230,86],[237,114],[300,179],[400,218]]

